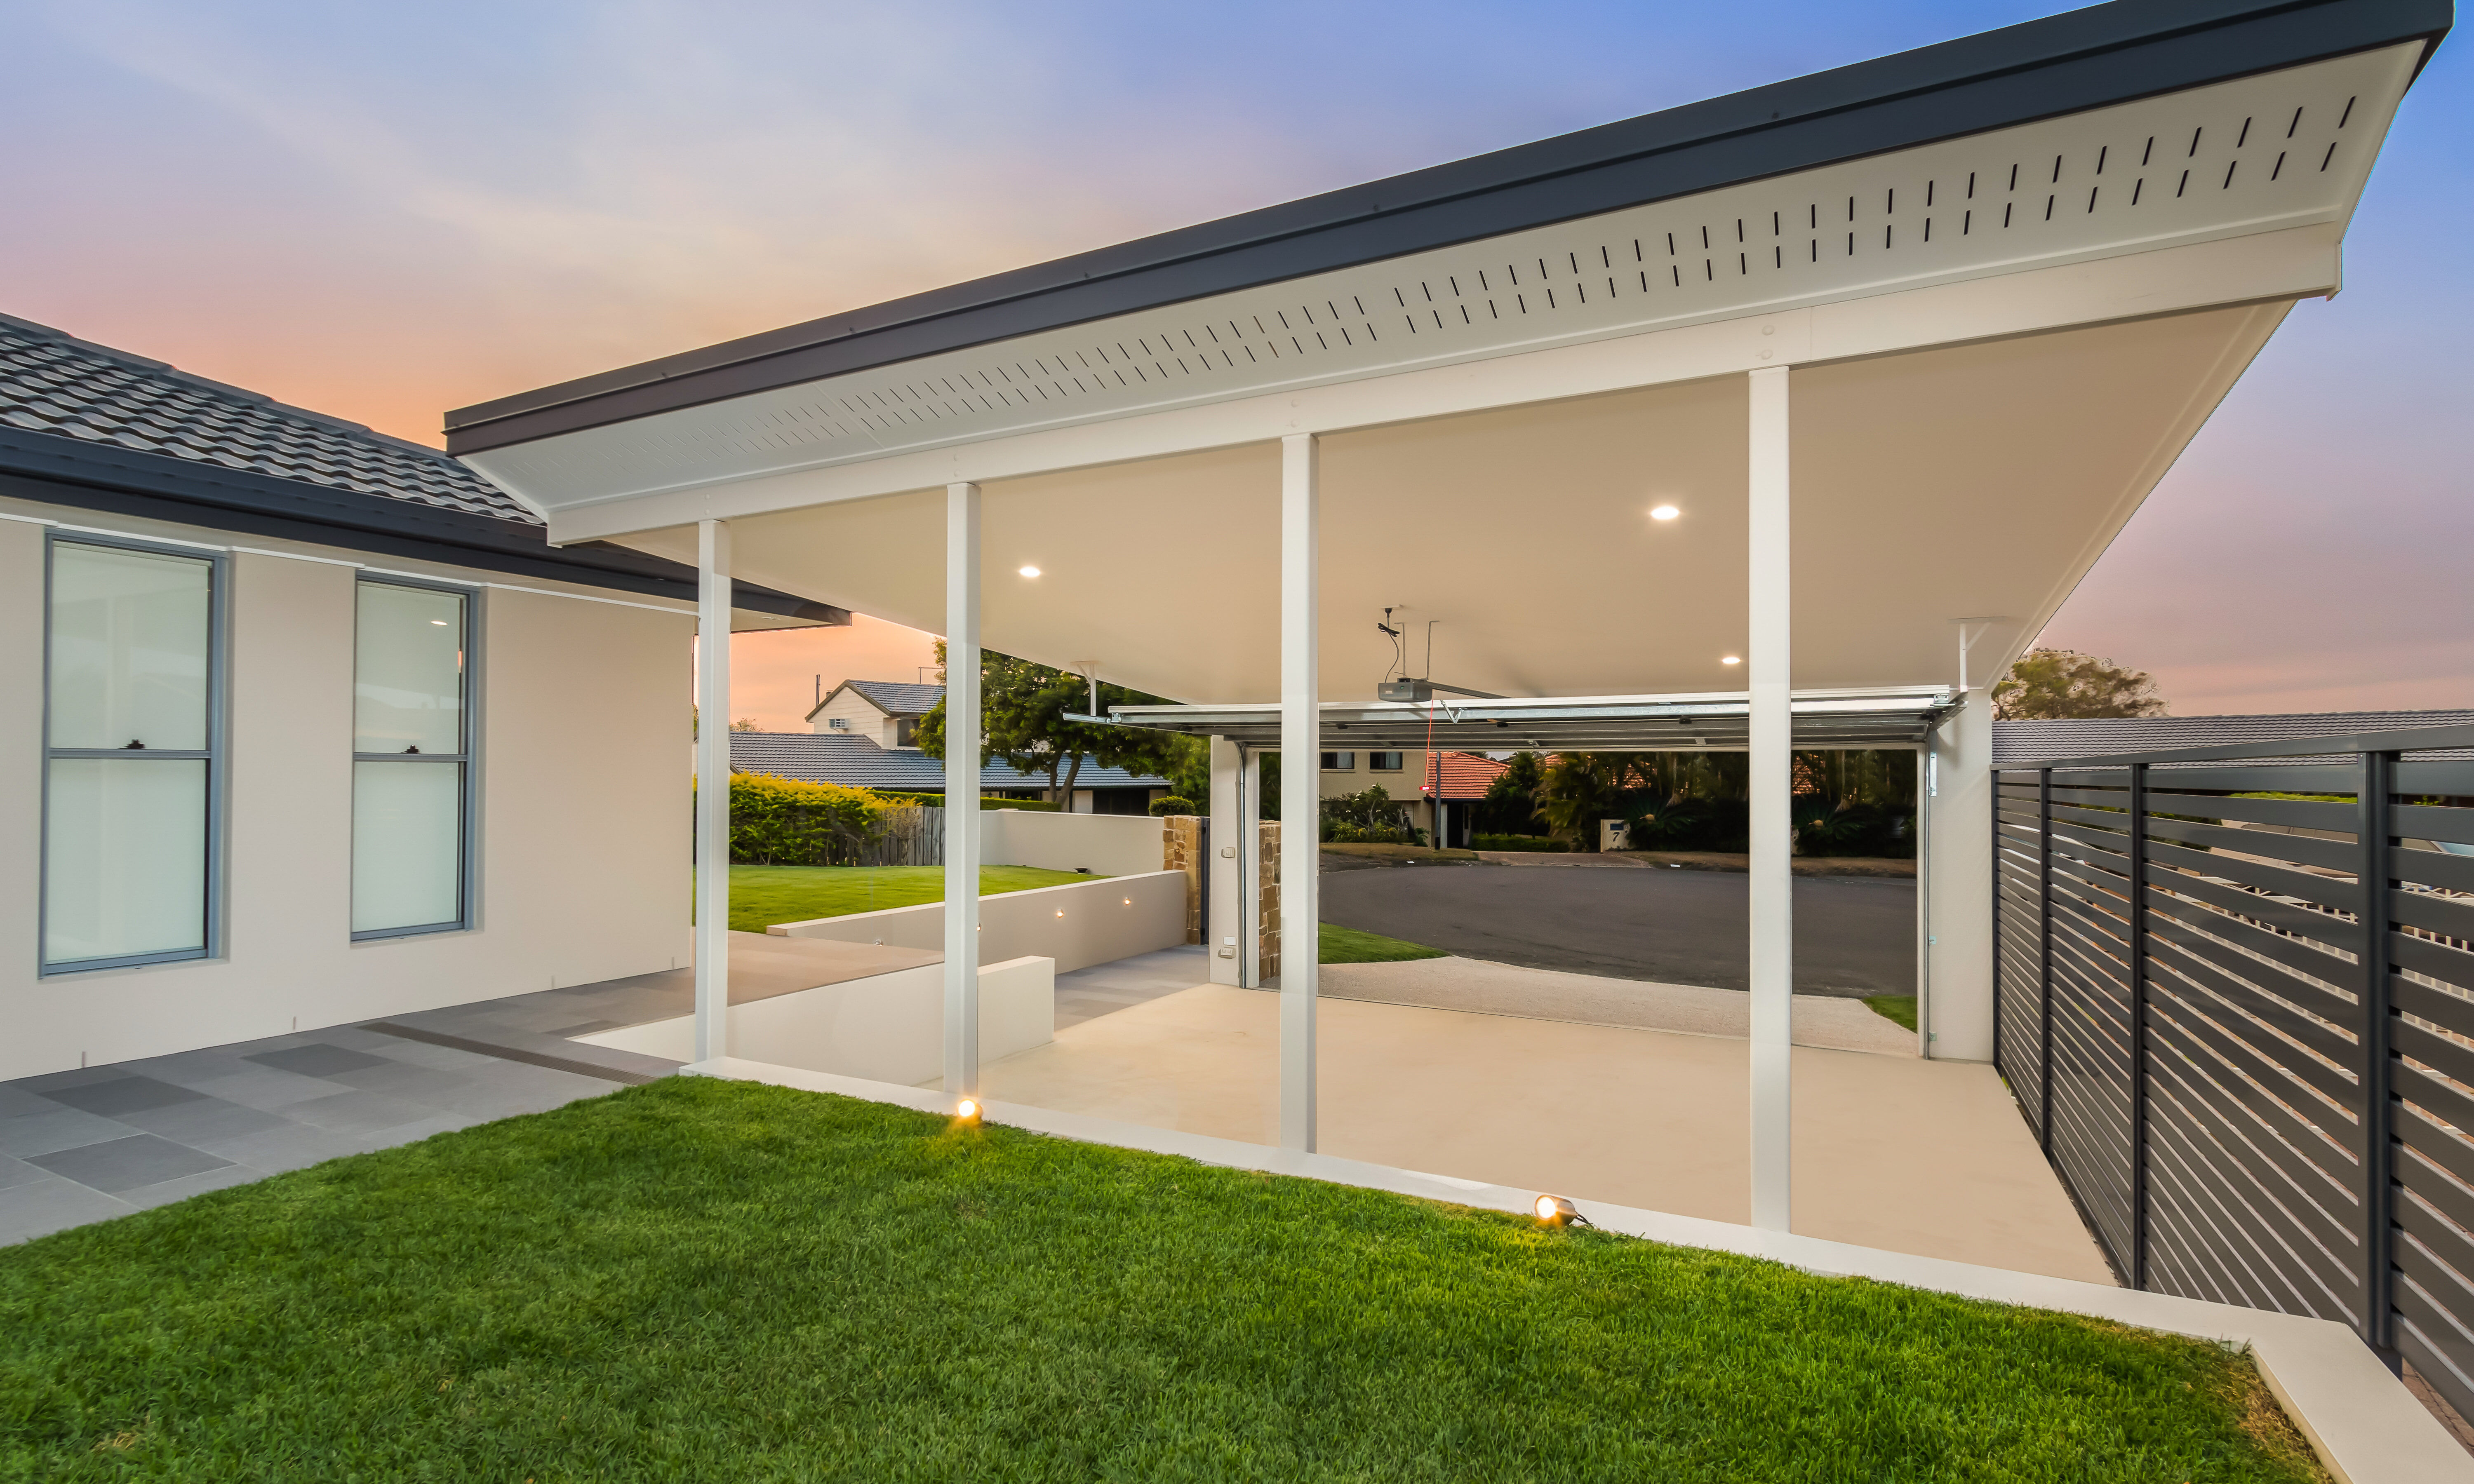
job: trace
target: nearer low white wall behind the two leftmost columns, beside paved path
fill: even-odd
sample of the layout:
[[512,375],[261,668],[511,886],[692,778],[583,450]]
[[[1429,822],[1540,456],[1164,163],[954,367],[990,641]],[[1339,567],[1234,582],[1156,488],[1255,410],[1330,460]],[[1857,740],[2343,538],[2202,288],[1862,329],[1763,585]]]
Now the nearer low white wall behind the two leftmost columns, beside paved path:
[[[695,1017],[574,1036],[594,1046],[688,1061]],[[1056,962],[980,967],[980,1059],[1056,1039]],[[918,1086],[945,1076],[945,965],[920,965],[730,1007],[730,1056]]]

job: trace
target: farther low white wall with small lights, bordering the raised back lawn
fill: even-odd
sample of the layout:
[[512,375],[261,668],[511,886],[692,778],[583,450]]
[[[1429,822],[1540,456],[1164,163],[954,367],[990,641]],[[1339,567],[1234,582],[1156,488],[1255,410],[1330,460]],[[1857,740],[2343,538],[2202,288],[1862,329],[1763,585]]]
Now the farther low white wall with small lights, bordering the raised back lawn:
[[[1066,819],[1066,816],[1029,816]],[[1106,819],[1106,816],[1101,816]],[[1158,821],[1150,821],[1158,824]],[[945,947],[945,903],[777,923],[777,937],[831,937],[893,947]],[[1056,960],[1056,972],[1089,970],[1138,952],[1185,942],[1185,873],[1071,881],[980,898],[980,962],[1024,955]]]

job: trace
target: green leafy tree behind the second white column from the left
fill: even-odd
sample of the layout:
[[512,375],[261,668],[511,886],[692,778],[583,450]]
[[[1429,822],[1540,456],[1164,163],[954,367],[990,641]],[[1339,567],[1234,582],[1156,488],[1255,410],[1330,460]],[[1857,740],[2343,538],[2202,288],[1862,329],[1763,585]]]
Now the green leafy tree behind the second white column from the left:
[[[945,678],[945,641],[935,646],[938,680]],[[1096,767],[1123,767],[1145,774],[1175,777],[1197,747],[1195,737],[1153,732],[1148,727],[1113,727],[1106,722],[1069,722],[1066,712],[1084,712],[1091,705],[1091,683],[1071,670],[1054,670],[980,650],[980,762],[1004,759],[1022,772],[1049,777],[1049,796],[1059,804],[1074,801],[1074,782],[1084,762]],[[1163,705],[1158,695],[1126,690],[1123,685],[1098,688],[1098,712],[1111,705]],[[920,752],[945,757],[945,702],[935,702],[918,730]]]

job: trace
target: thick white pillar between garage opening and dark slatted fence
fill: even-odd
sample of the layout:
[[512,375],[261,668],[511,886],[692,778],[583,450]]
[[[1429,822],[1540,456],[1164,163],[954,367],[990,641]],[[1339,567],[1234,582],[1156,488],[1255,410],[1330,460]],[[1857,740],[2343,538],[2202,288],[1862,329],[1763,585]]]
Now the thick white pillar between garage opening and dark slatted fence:
[[1984,690],[1932,732],[1925,801],[1925,1031],[1945,1061],[1994,1059],[1994,707]]

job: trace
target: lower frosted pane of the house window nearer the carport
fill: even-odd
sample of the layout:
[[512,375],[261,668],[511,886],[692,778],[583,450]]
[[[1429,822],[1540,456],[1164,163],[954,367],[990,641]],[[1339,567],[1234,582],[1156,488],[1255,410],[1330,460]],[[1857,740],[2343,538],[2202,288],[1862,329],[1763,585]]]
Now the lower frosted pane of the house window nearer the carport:
[[351,930],[463,920],[460,762],[351,764]]

